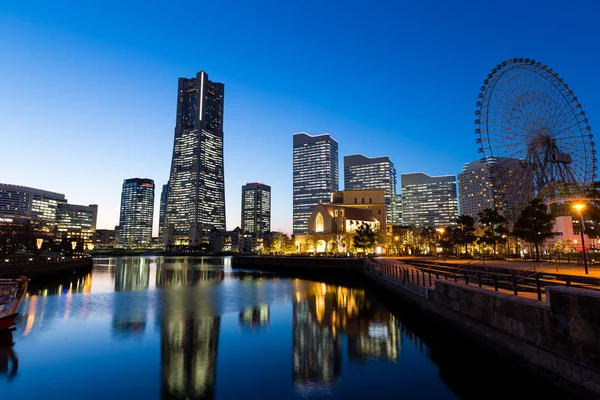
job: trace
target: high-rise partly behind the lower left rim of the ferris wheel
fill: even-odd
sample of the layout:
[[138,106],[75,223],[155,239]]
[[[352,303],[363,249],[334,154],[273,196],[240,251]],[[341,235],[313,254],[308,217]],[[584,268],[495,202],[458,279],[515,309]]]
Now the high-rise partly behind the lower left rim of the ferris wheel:
[[466,163],[458,174],[458,203],[461,215],[473,218],[486,208],[500,208],[501,201],[485,159]]

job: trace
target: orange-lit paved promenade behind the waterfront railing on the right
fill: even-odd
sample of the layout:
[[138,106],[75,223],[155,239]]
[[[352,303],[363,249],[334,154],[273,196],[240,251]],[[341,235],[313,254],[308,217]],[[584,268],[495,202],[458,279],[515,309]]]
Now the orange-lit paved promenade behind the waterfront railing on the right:
[[[442,262],[441,257],[380,257],[385,259],[386,262],[392,260],[422,260],[432,262]],[[559,273],[565,275],[576,275],[576,276],[588,276],[591,278],[600,278],[600,263],[595,265],[588,264],[589,274],[585,274],[583,265],[577,265],[576,261],[567,264],[566,262],[554,263],[554,262],[521,262],[521,261],[506,261],[506,260],[473,260],[473,259],[457,259],[457,258],[446,258],[444,263],[455,264],[455,265],[473,265],[473,266],[485,266],[492,268],[504,268],[504,269],[515,269],[521,271],[533,271],[533,268],[540,272]]]

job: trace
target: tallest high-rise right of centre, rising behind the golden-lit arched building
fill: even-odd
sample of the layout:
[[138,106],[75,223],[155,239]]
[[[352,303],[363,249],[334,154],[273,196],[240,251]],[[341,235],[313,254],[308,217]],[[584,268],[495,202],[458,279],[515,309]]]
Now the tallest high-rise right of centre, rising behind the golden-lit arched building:
[[338,190],[338,143],[330,135],[294,134],[294,234],[308,233],[308,218]]

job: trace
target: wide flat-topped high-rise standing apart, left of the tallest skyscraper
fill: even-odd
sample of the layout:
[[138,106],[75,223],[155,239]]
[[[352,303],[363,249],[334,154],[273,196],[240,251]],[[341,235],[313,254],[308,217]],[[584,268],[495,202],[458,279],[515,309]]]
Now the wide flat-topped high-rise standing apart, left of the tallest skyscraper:
[[147,246],[152,239],[154,181],[131,178],[123,181],[119,244],[125,247]]

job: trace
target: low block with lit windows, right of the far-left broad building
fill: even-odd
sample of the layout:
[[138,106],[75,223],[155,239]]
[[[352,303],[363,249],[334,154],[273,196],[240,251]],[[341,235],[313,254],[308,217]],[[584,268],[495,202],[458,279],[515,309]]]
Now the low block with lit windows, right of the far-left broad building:
[[89,206],[59,204],[55,239],[61,242],[82,241],[84,246],[92,248],[96,236],[97,217],[97,204]]

